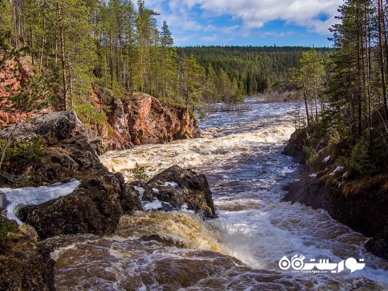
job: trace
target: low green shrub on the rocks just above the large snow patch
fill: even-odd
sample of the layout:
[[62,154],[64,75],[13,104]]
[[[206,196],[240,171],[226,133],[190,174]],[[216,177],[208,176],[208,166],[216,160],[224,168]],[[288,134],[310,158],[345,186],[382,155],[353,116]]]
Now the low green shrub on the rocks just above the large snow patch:
[[[0,152],[6,144],[0,140]],[[35,165],[46,155],[47,146],[42,139],[34,141],[17,141],[13,139],[5,150],[3,167],[8,172],[21,170],[25,166]]]

